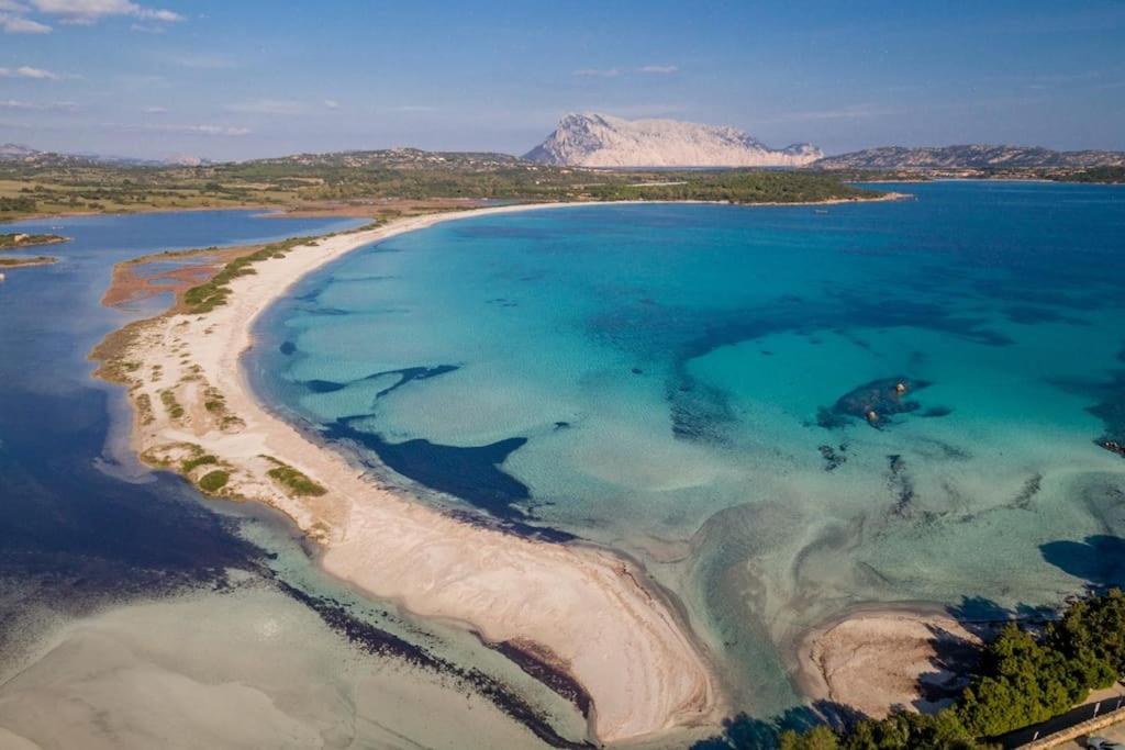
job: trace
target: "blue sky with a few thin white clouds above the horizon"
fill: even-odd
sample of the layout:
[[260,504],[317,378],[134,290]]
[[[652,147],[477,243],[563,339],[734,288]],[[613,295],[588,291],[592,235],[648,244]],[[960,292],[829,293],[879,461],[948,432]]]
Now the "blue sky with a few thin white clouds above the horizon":
[[0,143],[521,154],[570,111],[1125,150],[1125,1],[0,0]]

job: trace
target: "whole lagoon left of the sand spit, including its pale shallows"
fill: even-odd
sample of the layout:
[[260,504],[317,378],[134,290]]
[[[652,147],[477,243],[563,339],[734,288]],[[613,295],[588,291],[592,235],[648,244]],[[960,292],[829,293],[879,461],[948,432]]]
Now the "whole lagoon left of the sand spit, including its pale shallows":
[[90,378],[102,336],[161,308],[102,307],[115,263],[362,223],[0,225],[72,238],[22,251],[60,262],[0,283],[0,747],[546,747],[529,724],[583,737],[576,710],[471,634],[323,573],[277,514],[138,466],[124,391]]

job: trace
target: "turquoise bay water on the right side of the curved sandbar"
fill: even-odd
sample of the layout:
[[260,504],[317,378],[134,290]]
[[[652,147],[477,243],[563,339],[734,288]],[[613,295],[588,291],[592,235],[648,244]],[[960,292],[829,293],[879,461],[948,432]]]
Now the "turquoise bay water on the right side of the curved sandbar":
[[897,189],[395,237],[277,305],[251,372],[426,501],[645,561],[764,715],[855,604],[1125,580],[1125,190]]

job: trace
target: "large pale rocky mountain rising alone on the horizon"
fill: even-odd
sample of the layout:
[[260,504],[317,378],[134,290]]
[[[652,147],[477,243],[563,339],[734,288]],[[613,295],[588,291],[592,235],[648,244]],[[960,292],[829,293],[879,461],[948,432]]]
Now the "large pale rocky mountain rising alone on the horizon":
[[744,130],[678,120],[567,115],[524,159],[568,166],[804,166],[807,143],[774,150]]

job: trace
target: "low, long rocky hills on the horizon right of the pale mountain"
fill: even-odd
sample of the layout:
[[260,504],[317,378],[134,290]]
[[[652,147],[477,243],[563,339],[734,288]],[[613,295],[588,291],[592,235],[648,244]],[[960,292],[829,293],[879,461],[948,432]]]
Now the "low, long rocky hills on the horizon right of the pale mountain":
[[882,146],[827,156],[812,164],[825,170],[956,170],[1123,166],[1120,151],[1051,151],[1036,146],[973,144],[904,148]]

